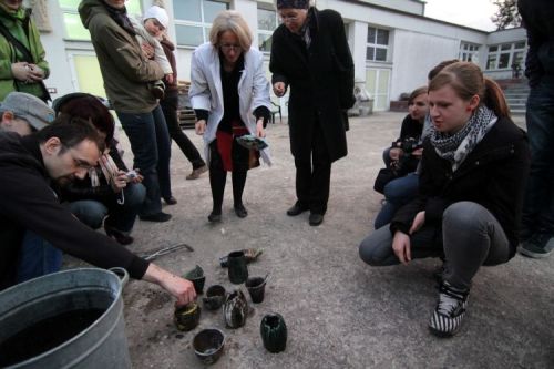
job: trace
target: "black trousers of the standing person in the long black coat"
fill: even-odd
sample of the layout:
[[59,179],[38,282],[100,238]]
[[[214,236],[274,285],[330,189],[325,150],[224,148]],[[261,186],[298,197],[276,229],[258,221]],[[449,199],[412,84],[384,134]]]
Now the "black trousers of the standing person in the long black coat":
[[311,157],[295,157],[296,197],[300,206],[311,213],[325,214],[329,201],[331,161],[324,132],[319,124],[314,127]]

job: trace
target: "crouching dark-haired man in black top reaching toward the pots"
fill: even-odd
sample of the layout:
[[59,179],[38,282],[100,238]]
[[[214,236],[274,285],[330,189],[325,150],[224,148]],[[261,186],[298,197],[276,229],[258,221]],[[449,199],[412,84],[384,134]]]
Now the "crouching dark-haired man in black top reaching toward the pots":
[[102,268],[123,267],[131,277],[165,288],[177,304],[187,304],[195,297],[191,281],[92,230],[59,204],[51,182],[84,177],[103,148],[89,122],[65,116],[29,136],[0,133],[0,290],[14,284],[21,239],[30,229],[70,255]]

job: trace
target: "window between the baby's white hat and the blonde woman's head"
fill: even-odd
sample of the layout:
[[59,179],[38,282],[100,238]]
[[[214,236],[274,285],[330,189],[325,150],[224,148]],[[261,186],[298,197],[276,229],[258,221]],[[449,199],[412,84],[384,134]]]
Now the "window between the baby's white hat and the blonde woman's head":
[[177,44],[197,47],[209,40],[215,17],[229,9],[229,4],[215,0],[173,1]]

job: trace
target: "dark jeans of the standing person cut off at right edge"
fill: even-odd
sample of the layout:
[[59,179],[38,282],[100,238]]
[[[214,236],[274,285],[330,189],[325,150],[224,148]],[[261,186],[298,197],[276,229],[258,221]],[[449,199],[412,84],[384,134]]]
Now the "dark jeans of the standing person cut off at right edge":
[[554,76],[531,89],[526,105],[531,171],[523,205],[522,238],[554,236]]

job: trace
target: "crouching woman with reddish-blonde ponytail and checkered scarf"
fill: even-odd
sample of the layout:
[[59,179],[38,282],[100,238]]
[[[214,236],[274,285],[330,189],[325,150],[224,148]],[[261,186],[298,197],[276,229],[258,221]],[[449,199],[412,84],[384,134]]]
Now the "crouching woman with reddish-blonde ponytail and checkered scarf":
[[372,266],[444,257],[429,329],[448,337],[460,329],[479,268],[515,254],[530,153],[501,89],[471,62],[431,80],[429,109],[419,195],[359,252]]

